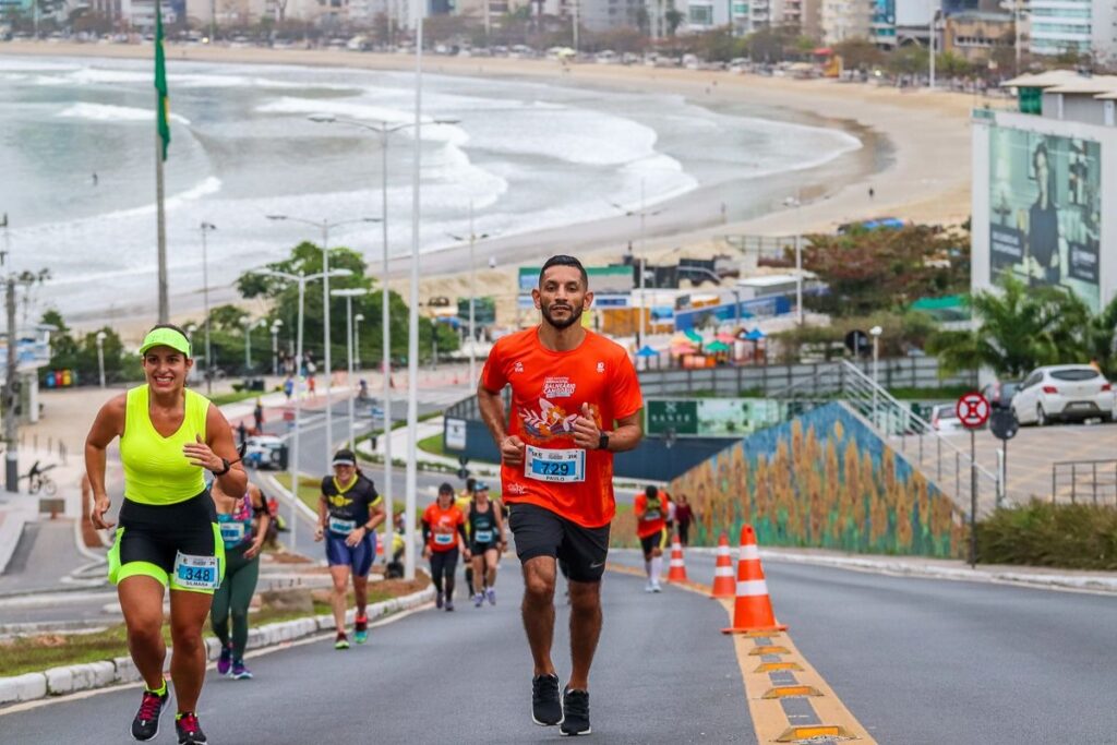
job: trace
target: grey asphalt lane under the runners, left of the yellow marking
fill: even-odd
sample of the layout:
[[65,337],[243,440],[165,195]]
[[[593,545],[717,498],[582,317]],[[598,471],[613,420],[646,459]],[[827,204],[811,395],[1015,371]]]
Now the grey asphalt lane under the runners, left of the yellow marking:
[[[460,572],[459,572],[460,577]],[[249,660],[256,678],[210,672],[199,717],[210,742],[487,743],[558,741],[529,717],[531,657],[521,627],[518,562],[506,558],[498,603],[475,609],[458,591],[454,613],[432,608],[373,629],[346,652],[332,640]],[[610,574],[604,631],[591,678],[595,743],[755,743],[725,612],[700,595],[643,593]],[[566,606],[554,659],[569,674]],[[0,741],[127,742],[137,687],[0,716]],[[173,708],[173,706],[172,706]],[[173,742],[170,714],[155,742]]]

